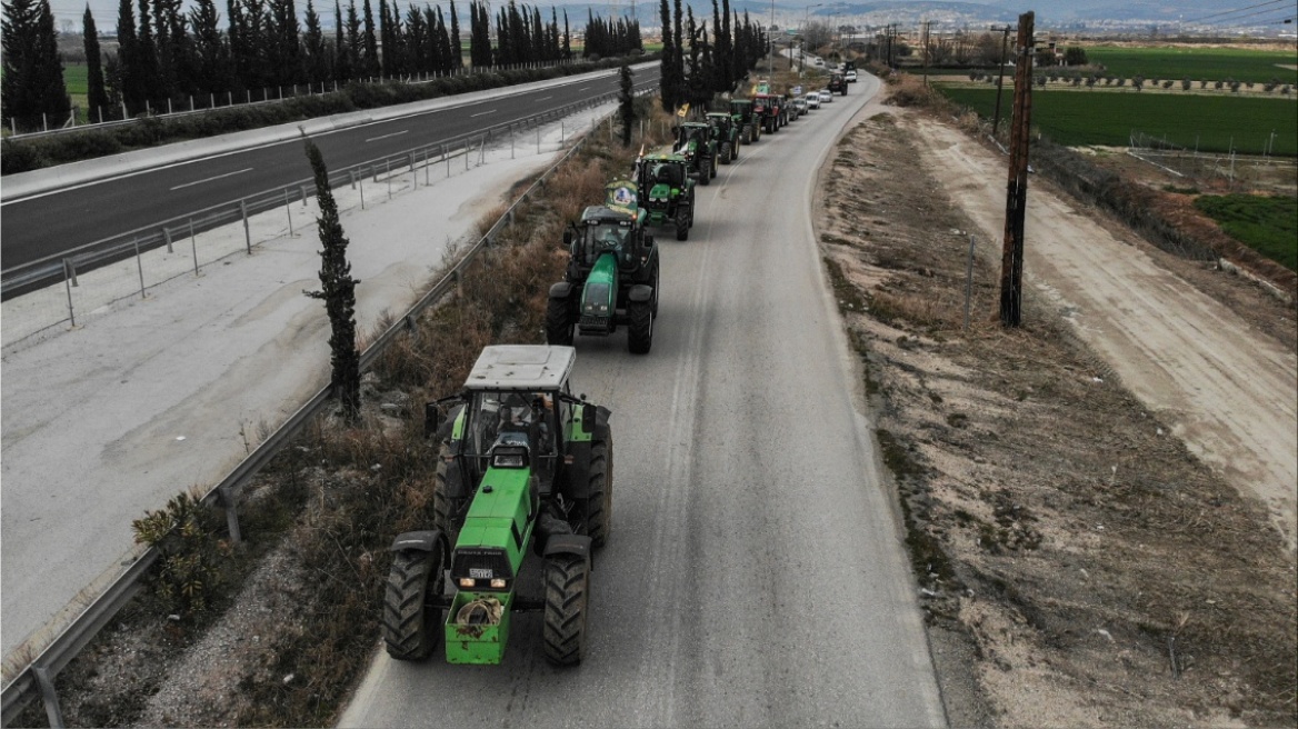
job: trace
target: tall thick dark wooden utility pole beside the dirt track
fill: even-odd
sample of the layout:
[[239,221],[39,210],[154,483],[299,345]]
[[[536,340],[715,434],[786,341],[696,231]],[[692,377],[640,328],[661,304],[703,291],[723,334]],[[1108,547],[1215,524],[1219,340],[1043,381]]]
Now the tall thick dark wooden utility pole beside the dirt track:
[[1010,119],[1010,180],[1005,198],[1005,246],[1001,254],[1001,324],[1023,323],[1023,221],[1028,205],[1028,141],[1032,125],[1032,22],[1019,16],[1015,42],[1014,117]]

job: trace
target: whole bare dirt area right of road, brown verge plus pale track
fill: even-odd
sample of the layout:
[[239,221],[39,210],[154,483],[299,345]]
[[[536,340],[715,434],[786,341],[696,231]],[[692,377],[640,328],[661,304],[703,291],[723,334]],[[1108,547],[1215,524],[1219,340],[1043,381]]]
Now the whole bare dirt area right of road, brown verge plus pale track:
[[1293,480],[1241,483],[1294,467],[1292,306],[1032,178],[1024,320],[1006,329],[1005,160],[945,114],[859,119],[823,173],[818,235],[950,724],[1293,725],[1294,555],[1267,527]]

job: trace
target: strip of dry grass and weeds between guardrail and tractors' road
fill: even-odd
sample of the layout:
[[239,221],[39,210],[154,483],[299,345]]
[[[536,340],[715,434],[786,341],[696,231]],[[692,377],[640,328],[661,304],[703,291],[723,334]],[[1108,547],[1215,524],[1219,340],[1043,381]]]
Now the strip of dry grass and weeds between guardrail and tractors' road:
[[[655,101],[641,97],[635,106],[646,119],[644,143],[670,141],[653,131],[668,126]],[[463,271],[454,293],[362,376],[358,423],[321,418],[245,489],[244,545],[225,541],[219,518],[182,515],[195,527],[169,537],[169,555],[182,555],[182,566],[187,550],[201,555],[193,559],[208,580],[188,584],[202,601],[169,598],[175,580],[158,582],[166,593],[136,598],[60,673],[69,725],[336,720],[378,645],[387,547],[396,534],[432,523],[436,450],[423,437],[423,403],[456,392],[483,346],[544,340],[549,287],[566,265],[563,226],[631,169],[640,141],[623,148],[593,135],[537,197],[515,209],[514,224]],[[502,211],[484,217],[478,232]],[[173,520],[151,514],[141,524],[154,536]],[[202,652],[187,656],[195,651]],[[21,723],[45,725],[39,703]]]

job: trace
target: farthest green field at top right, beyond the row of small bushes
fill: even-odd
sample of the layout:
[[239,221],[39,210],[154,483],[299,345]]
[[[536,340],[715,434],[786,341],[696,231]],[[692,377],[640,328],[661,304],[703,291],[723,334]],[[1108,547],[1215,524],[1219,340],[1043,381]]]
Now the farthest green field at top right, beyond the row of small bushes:
[[1086,60],[1111,77],[1298,84],[1298,54],[1242,48],[1086,48]]

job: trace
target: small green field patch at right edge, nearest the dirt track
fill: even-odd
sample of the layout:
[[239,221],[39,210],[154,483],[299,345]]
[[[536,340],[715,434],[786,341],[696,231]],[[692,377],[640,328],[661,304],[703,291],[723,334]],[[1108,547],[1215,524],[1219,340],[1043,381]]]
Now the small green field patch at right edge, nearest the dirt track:
[[1231,237],[1298,271],[1298,198],[1258,195],[1203,195],[1194,206]]

